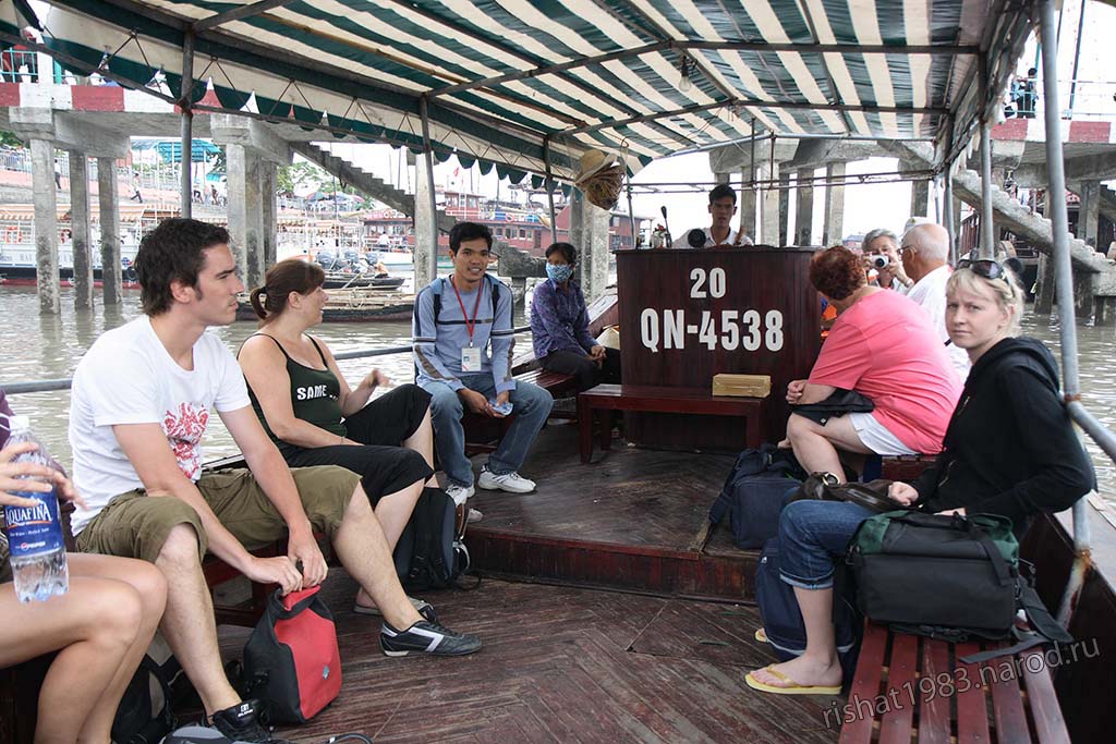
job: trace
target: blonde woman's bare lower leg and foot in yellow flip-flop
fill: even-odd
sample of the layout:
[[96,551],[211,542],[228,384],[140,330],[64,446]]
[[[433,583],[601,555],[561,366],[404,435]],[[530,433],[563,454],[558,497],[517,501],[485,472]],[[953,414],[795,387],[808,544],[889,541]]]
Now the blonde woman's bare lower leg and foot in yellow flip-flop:
[[806,650],[796,659],[773,665],[776,671],[792,682],[787,683],[767,669],[757,669],[752,676],[772,687],[839,685],[841,668],[833,624],[834,590],[795,587],[795,599],[806,625]]

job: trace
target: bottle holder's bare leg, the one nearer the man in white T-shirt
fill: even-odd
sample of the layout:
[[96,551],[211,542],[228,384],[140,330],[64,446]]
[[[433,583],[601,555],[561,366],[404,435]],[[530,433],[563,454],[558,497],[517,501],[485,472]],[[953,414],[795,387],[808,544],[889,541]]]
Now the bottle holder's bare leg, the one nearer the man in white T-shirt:
[[147,653],[151,639],[163,617],[163,608],[166,605],[166,580],[151,563],[107,555],[70,554],[69,570],[70,576],[97,576],[128,584],[138,592],[142,606],[136,638],[121,660],[116,674],[97,699],[78,736],[79,742],[99,744],[109,740],[116,707],[124,696],[128,682],[132,680],[132,675]]

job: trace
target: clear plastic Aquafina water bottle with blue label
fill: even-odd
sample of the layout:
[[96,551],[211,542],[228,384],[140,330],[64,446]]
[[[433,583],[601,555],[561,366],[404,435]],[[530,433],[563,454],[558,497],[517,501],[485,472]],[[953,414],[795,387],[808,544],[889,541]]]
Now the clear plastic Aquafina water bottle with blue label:
[[[35,442],[39,448],[17,456],[12,462],[35,463],[50,467],[54,463],[42,444],[31,434],[27,416],[9,418],[11,436],[7,446]],[[37,479],[40,480],[40,479]],[[8,522],[8,549],[11,551],[11,571],[19,601],[46,601],[69,590],[66,569],[66,543],[58,521],[58,496],[55,490],[17,491],[17,496],[33,499],[35,506],[4,506]]]

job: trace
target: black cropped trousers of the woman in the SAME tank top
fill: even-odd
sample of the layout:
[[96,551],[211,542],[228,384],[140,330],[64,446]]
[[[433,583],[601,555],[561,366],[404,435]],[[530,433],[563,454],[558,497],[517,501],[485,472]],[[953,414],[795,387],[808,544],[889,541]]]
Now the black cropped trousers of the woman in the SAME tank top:
[[430,393],[417,385],[401,385],[345,419],[346,438],[364,446],[307,450],[283,444],[279,451],[291,467],[340,465],[353,471],[375,506],[383,496],[434,474],[422,455],[400,446],[417,431],[429,407]]

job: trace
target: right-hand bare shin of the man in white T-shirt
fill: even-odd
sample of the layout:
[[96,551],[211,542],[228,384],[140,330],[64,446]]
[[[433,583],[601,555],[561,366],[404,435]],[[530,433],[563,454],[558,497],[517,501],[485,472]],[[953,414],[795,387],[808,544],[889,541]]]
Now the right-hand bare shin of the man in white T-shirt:
[[349,576],[356,579],[393,628],[410,628],[422,619],[400,586],[384,531],[359,485],[349,499],[344,521],[334,538],[334,549]]

